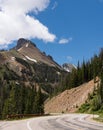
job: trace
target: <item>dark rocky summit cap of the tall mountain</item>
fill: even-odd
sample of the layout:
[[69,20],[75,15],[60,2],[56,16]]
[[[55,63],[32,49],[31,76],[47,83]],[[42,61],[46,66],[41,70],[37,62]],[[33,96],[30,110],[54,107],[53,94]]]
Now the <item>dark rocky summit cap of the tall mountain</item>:
[[36,45],[35,45],[33,42],[31,42],[30,40],[24,39],[24,38],[20,38],[20,39],[17,41],[17,46],[16,46],[14,49],[18,50],[18,49],[20,49],[21,47],[23,47],[24,45],[25,45],[26,47],[28,47],[28,46],[34,46],[34,47],[36,47]]

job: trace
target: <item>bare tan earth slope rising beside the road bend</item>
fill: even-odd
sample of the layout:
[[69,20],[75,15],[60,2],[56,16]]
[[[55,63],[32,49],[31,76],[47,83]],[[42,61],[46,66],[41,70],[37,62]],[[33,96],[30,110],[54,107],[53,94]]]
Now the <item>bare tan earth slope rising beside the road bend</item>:
[[79,87],[65,90],[63,93],[45,102],[46,113],[75,112],[88,98],[88,94],[92,93],[94,80],[85,83]]

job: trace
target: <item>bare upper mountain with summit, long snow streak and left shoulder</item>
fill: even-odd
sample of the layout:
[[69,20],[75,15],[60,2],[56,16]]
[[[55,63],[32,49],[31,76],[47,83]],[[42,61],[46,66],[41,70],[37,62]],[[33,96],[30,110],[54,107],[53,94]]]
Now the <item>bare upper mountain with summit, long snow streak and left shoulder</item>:
[[0,55],[6,57],[7,62],[13,61],[13,57],[19,57],[28,62],[45,63],[49,66],[61,68],[51,56],[46,56],[33,42],[23,38],[17,41],[16,47],[7,52],[0,52]]

